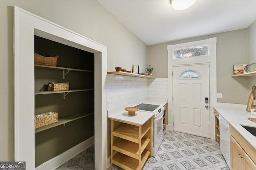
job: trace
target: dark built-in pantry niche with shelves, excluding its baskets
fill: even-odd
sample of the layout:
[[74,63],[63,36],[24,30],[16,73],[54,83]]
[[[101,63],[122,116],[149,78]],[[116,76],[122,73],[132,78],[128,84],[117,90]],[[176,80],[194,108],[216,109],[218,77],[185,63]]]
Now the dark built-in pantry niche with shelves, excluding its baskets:
[[[94,135],[94,54],[34,38],[35,53],[46,57],[59,55],[56,67],[35,65],[34,69],[35,114],[58,113],[58,123],[35,130],[37,167]],[[70,70],[65,79],[63,70]],[[70,90],[47,92],[48,82],[69,82]]]

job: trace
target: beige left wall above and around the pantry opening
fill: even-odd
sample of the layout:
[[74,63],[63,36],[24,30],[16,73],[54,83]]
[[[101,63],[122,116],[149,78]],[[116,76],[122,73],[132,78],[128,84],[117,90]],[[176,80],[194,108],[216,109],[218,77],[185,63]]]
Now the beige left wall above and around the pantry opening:
[[0,161],[14,160],[13,6],[106,45],[108,71],[146,67],[146,44],[96,0],[0,0]]

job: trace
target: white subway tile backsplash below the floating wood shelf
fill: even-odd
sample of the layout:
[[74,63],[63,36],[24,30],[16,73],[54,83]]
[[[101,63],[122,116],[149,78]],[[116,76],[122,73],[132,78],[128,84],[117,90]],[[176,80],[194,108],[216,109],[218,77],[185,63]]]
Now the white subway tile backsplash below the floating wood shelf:
[[108,110],[132,106],[144,98],[166,98],[167,78],[140,78],[107,74]]

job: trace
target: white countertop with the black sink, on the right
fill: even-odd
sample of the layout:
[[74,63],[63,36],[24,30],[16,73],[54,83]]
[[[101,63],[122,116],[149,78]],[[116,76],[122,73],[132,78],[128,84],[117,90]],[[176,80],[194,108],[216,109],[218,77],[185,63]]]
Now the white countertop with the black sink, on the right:
[[246,111],[246,108],[231,108],[231,107],[223,107],[223,106],[214,106],[214,109],[218,111],[220,115],[228,123],[248,141],[256,149],[256,137],[254,137],[250,132],[248,132],[241,125],[246,125],[250,127],[256,127],[256,123],[248,120],[248,117],[256,118],[255,115],[252,115],[250,112]]

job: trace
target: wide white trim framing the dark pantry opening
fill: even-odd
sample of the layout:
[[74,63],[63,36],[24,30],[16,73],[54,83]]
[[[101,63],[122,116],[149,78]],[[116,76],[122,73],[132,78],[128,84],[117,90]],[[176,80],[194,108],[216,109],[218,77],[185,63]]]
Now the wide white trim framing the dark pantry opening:
[[94,68],[97,68],[94,71],[95,168],[104,170],[108,152],[107,47],[17,6],[14,7],[14,159],[26,161],[28,170],[35,169],[34,35],[37,33],[94,53]]

